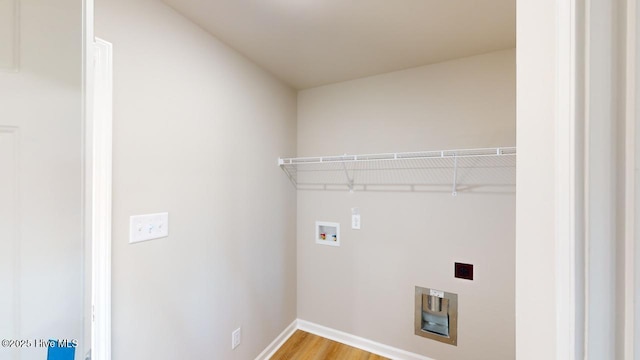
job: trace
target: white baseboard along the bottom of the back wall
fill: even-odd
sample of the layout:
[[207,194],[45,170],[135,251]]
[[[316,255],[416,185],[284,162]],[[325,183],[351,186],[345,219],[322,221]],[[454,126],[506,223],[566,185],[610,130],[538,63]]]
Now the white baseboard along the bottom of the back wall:
[[311,334],[322,336],[323,338],[337,341],[339,343],[353,346],[358,349],[368,351],[373,354],[384,356],[395,360],[434,360],[432,358],[415,354],[406,350],[398,349],[389,345],[381,344],[369,339],[351,335],[326,326],[318,325],[306,320],[298,319],[298,329]]

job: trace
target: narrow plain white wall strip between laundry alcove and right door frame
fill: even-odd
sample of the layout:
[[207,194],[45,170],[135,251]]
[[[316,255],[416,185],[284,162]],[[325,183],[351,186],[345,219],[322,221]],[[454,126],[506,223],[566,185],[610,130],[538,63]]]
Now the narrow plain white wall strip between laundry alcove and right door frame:
[[516,355],[555,359],[556,2],[517,5]]

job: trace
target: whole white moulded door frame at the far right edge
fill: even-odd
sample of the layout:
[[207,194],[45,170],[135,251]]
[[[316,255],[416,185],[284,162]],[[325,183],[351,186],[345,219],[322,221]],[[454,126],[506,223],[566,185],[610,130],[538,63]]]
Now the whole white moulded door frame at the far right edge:
[[638,11],[556,2],[556,359],[640,358]]

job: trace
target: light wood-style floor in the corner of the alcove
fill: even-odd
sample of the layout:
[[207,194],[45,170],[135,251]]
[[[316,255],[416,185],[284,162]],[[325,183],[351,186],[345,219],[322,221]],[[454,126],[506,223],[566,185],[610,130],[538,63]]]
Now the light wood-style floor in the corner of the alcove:
[[296,330],[271,360],[388,360],[364,350]]

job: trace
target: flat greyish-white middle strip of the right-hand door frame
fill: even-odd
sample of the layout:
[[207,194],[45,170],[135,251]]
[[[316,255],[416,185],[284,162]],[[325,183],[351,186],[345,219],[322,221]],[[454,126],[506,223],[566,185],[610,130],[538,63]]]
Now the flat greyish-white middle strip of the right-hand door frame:
[[586,353],[589,359],[614,359],[616,341],[617,2],[588,1],[586,29]]

